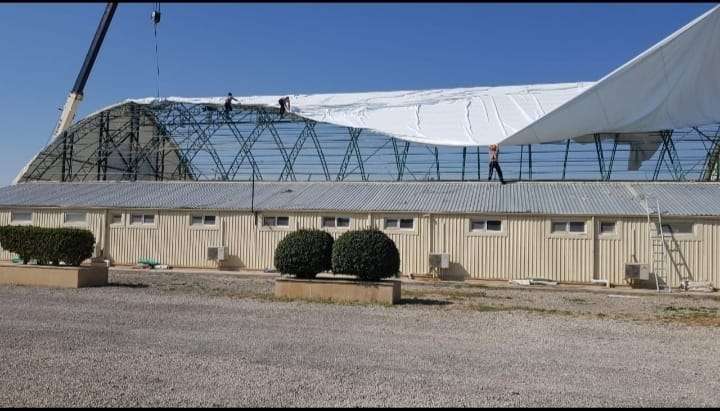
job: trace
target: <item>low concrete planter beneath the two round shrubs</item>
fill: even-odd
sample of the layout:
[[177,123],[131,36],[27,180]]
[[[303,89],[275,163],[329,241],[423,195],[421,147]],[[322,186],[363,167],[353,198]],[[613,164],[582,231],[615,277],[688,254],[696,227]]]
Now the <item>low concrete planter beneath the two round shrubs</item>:
[[275,296],[306,300],[397,304],[400,302],[400,281],[278,278],[275,280]]

